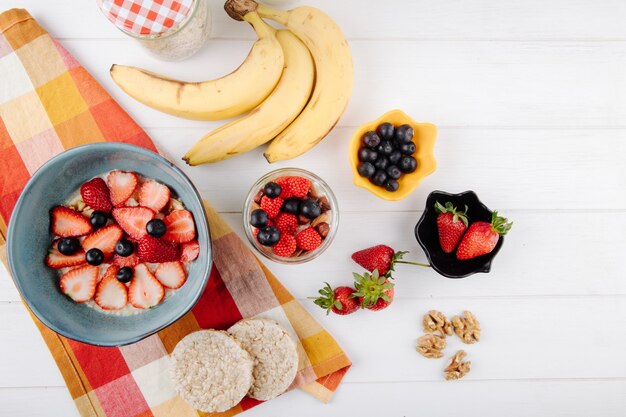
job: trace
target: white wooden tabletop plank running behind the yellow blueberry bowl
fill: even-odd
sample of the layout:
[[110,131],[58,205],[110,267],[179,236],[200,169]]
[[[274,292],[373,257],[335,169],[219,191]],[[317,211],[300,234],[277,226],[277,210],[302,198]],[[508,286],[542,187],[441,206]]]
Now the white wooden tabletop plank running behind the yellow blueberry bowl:
[[437,189],[473,189],[488,207],[505,211],[626,208],[626,193],[619,192],[626,188],[626,130],[444,127],[435,146],[437,170],[399,202],[383,201],[353,185],[348,144],[354,130],[337,128],[312,151],[291,161],[269,165],[262,149],[257,149],[199,167],[187,167],[180,158],[204,129],[149,129],[148,133],[203,195],[226,212],[241,211],[250,186],[263,174],[289,166],[324,178],[342,212],[423,210],[426,196]]

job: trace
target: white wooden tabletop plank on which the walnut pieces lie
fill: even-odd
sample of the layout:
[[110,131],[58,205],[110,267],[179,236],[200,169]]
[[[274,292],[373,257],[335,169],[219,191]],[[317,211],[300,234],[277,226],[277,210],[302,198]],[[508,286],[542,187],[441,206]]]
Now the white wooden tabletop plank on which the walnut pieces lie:
[[[446,357],[464,349],[472,360],[466,380],[625,378],[626,357],[616,354],[625,336],[625,299],[405,298],[380,312],[345,317],[326,317],[310,302],[307,308],[352,360],[354,366],[345,378],[350,382],[440,381],[445,361],[426,359],[415,351],[415,341],[423,334],[421,318],[430,309],[450,316],[468,309],[480,320],[478,344],[448,338]],[[0,345],[0,387],[61,385],[60,374],[22,306],[0,304],[0,314],[0,335],[9,341]],[[580,360],[572,363],[576,358]],[[37,369],[37,374],[24,372],[25,366]]]

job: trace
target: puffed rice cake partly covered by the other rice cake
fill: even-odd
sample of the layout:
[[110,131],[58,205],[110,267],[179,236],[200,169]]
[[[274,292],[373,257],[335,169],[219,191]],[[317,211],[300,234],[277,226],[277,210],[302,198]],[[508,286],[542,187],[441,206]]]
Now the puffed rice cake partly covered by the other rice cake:
[[254,360],[248,395],[267,401],[289,388],[298,372],[298,350],[289,333],[273,320],[244,319],[228,329]]

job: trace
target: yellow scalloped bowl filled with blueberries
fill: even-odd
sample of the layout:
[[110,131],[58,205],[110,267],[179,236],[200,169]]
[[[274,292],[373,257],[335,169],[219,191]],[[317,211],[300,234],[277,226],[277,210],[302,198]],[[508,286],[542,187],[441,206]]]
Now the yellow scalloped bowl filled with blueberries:
[[392,110],[352,136],[349,158],[354,184],[385,200],[402,200],[432,174],[437,128]]

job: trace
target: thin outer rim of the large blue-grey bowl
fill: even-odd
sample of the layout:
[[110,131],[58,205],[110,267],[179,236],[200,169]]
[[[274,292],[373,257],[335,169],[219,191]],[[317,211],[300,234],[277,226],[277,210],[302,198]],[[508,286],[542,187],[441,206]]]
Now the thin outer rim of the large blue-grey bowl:
[[[196,186],[191,182],[191,180],[189,179],[189,177],[180,169],[178,168],[176,165],[174,165],[171,161],[167,160],[166,158],[164,158],[163,156],[161,156],[160,154],[153,152],[149,149],[146,148],[142,148],[139,146],[135,146],[135,145],[130,145],[127,143],[123,143],[123,142],[98,142],[98,143],[89,143],[89,144],[85,144],[85,145],[80,145],[80,146],[76,146],[74,148],[70,148],[67,149],[55,156],[53,156],[52,158],[50,158],[48,161],[46,161],[41,167],[39,167],[39,169],[37,169],[37,171],[35,171],[35,173],[30,177],[30,179],[28,180],[28,182],[26,183],[26,185],[24,186],[24,189],[22,190],[22,192],[20,193],[20,196],[17,200],[17,202],[15,203],[15,206],[13,208],[13,212],[11,214],[11,218],[9,220],[9,224],[8,224],[8,228],[7,228],[7,260],[9,263],[9,269],[11,270],[11,274],[12,271],[15,270],[14,268],[14,261],[13,261],[13,244],[12,244],[12,238],[13,238],[13,220],[14,217],[17,216],[17,213],[20,210],[20,207],[23,205],[24,201],[23,199],[25,198],[24,196],[27,194],[27,191],[33,186],[33,184],[37,181],[37,179],[44,175],[44,172],[46,171],[46,169],[53,165],[57,159],[61,158],[61,157],[67,157],[72,156],[73,154],[76,153],[80,153],[82,152],[85,148],[116,148],[116,149],[120,149],[120,150],[125,150],[125,151],[129,151],[131,153],[139,153],[139,154],[143,154],[149,158],[153,158],[156,159],[159,162],[162,162],[168,166],[170,166],[175,172],[177,172],[178,174],[180,174],[180,176],[182,177],[182,179],[184,180],[184,182],[190,187],[190,189],[193,191],[193,194],[196,196],[196,198],[198,199],[198,201],[200,202],[200,207],[202,209],[202,215],[203,215],[203,219],[206,222],[207,225],[207,242],[209,245],[209,259],[207,261],[207,266],[206,269],[203,271],[203,275],[204,275],[204,283],[202,285],[202,289],[201,291],[198,291],[198,294],[194,297],[193,300],[191,300],[191,303],[189,303],[189,306],[187,308],[185,308],[182,313],[178,316],[173,317],[171,320],[167,321],[166,323],[164,323],[163,325],[149,330],[145,333],[139,334],[135,337],[131,337],[131,338],[127,338],[124,340],[113,340],[111,342],[102,342],[99,340],[91,340],[89,338],[84,338],[84,339],[79,339],[76,338],[75,335],[69,334],[68,332],[65,332],[63,329],[57,327],[54,323],[50,322],[43,314],[41,314],[40,311],[37,310],[37,308],[35,308],[30,301],[28,300],[28,298],[24,297],[23,300],[25,301],[26,305],[28,306],[28,309],[35,315],[35,317],[37,317],[46,327],[48,327],[50,330],[54,331],[55,333],[60,334],[63,337],[66,337],[68,339],[71,340],[75,340],[77,342],[81,342],[81,343],[87,343],[93,346],[101,346],[101,347],[116,347],[116,346],[126,346],[126,345],[130,345],[133,343],[137,343],[143,339],[145,339],[146,337],[152,336],[153,334],[165,329],[166,327],[172,325],[174,322],[176,322],[178,319],[180,319],[182,316],[184,316],[185,314],[187,314],[198,302],[198,300],[200,300],[200,297],[202,296],[202,294],[204,293],[204,290],[206,289],[206,285],[209,282],[209,275],[211,273],[211,269],[213,267],[213,239],[211,238],[211,228],[209,226],[209,222],[208,222],[208,216],[206,214],[206,210],[204,208],[204,204],[202,203],[202,196],[200,195],[200,193],[198,192],[198,189],[196,188]],[[198,220],[196,220],[196,222],[198,222]],[[15,283],[15,286],[17,287],[20,296],[22,296],[23,292],[22,292],[22,285],[20,283],[20,280],[17,278],[13,278],[13,282]]]

